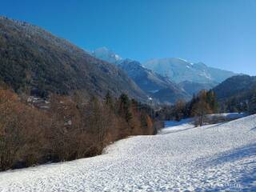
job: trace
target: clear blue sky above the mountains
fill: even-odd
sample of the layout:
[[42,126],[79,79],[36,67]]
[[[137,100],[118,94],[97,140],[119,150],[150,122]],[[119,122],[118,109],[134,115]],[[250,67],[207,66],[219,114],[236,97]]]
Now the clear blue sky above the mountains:
[[255,0],[6,0],[0,14],[42,26],[86,50],[124,58],[184,58],[256,75]]

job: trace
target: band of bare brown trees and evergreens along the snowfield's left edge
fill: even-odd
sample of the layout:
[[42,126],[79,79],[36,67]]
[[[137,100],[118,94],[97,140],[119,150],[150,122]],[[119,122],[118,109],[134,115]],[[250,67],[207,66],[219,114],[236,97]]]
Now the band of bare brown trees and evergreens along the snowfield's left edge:
[[39,110],[0,89],[0,170],[91,157],[118,139],[156,134],[159,126],[150,106],[126,94],[90,101],[51,94],[49,102],[49,110]]

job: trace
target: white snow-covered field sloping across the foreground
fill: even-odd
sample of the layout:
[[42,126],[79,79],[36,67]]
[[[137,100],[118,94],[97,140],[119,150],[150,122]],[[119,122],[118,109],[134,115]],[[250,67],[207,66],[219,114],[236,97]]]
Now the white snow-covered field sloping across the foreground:
[[256,115],[188,122],[116,142],[94,158],[0,174],[0,191],[256,191]]

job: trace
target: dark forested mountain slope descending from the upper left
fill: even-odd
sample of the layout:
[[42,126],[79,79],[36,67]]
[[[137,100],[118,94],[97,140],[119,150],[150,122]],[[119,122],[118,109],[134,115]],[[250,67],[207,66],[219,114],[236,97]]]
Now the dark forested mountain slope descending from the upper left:
[[107,90],[139,100],[146,95],[116,66],[38,26],[0,17],[0,81],[18,93],[49,92],[102,97]]

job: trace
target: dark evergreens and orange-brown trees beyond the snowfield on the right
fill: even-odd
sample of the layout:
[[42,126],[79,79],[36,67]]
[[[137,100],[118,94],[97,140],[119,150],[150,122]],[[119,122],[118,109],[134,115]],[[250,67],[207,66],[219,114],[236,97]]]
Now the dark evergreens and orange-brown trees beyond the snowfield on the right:
[[256,114],[256,90],[254,94],[247,97],[246,101],[238,101],[238,98],[229,98],[226,102],[218,102],[213,90],[201,90],[193,96],[190,102],[178,100],[173,106],[163,106],[157,115],[159,119],[176,121],[180,121],[182,118],[195,118],[196,126],[202,126],[206,114],[232,112]]

